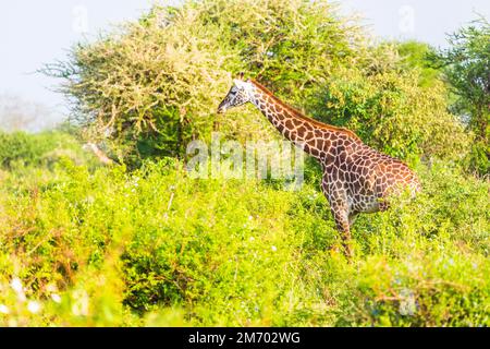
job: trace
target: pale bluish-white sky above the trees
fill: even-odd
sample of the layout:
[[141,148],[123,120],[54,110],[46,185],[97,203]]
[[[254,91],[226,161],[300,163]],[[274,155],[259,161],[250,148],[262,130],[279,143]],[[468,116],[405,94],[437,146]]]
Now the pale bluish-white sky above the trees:
[[[66,115],[56,81],[35,73],[63,60],[78,40],[111,25],[137,19],[151,0],[2,0],[0,2],[0,97],[15,96],[45,105],[52,119]],[[170,1],[160,1],[170,2]],[[173,3],[179,0],[171,1]],[[356,12],[382,38],[416,38],[445,45],[445,34],[477,17],[490,19],[488,0],[341,0],[343,13]],[[0,128],[1,128],[0,120]]]

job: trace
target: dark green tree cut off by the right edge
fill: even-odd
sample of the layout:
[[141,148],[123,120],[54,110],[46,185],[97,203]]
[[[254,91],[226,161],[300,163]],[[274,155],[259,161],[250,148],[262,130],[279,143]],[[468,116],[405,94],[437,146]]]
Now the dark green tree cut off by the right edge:
[[490,171],[490,25],[480,19],[449,36],[448,49],[432,61],[443,68],[454,94],[453,112],[461,116],[476,140],[471,167],[481,174]]

